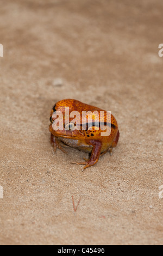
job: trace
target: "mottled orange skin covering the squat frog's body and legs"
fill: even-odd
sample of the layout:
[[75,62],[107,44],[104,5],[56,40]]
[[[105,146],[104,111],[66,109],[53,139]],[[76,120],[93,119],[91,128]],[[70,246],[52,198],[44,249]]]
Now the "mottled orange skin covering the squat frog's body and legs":
[[[52,118],[54,111],[61,111],[64,117],[65,107],[69,107],[70,113],[72,111],[78,111],[80,113],[80,119],[77,121],[77,124],[79,125],[79,127],[80,125],[82,125],[82,111],[86,111],[86,112],[97,111],[98,113],[100,111],[103,111],[104,114],[102,115],[100,121],[102,123],[106,123],[106,111],[104,111],[101,108],[87,105],[83,102],[80,102],[78,100],[73,100],[73,99],[61,100],[54,105],[50,113],[51,123],[53,123],[53,121],[55,120],[55,118]],[[93,116],[92,120],[95,120],[94,118],[95,117]],[[70,123],[71,123],[71,120],[73,119],[74,117],[70,118]],[[109,136],[101,136],[101,133],[103,132],[103,130],[101,130],[100,127],[99,127],[99,130],[95,130],[95,127],[92,126],[91,128],[89,128],[89,130],[86,130],[86,131],[82,130],[82,128],[74,131],[65,130],[64,128],[63,130],[54,131],[51,124],[49,125],[49,131],[51,132],[51,142],[53,144],[54,150],[59,148],[62,151],[64,151],[59,144],[59,141],[62,141],[63,143],[71,147],[90,153],[91,156],[89,160],[85,162],[77,163],[77,164],[84,164],[85,165],[84,169],[87,167],[90,167],[98,161],[101,153],[104,154],[107,151],[111,152],[112,147],[116,147],[118,143],[120,133],[118,131],[117,121],[112,114],[111,114],[111,119],[109,120],[109,123],[111,125],[111,133]],[[65,120],[64,120],[64,125],[66,125]]]

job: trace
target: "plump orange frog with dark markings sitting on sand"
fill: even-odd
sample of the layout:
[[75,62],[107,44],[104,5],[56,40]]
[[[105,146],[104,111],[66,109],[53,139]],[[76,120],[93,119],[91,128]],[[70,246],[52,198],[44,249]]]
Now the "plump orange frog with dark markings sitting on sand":
[[[65,107],[68,107],[69,113],[76,111],[80,114],[80,117],[76,118],[75,130],[71,129],[72,126],[73,128],[75,127],[73,123],[74,117],[69,118],[68,123],[66,123]],[[96,122],[95,114],[92,115],[92,123],[90,126],[88,123],[86,123],[85,129],[83,129],[83,111],[89,111],[89,113],[99,113],[100,120],[98,121],[98,124]],[[101,112],[103,113],[102,115],[100,115]],[[54,129],[54,123],[58,121],[57,119],[59,119],[59,116],[55,113],[61,113],[63,118],[63,125],[61,128],[59,127],[58,130]],[[63,145],[65,145],[89,154],[89,158],[84,159],[85,161],[73,162],[74,164],[84,165],[82,169],[89,168],[96,164],[99,160],[99,157],[108,151],[111,155],[112,148],[116,147],[120,137],[118,124],[114,115],[110,113],[110,119],[108,121],[106,111],[104,109],[83,103],[75,99],[64,99],[55,103],[50,112],[49,120],[51,121],[51,124],[49,125],[49,131],[51,132],[51,144],[53,146],[54,152],[57,149],[60,149],[67,154],[67,151],[63,148]],[[86,120],[88,120],[88,116]],[[109,125],[110,133],[108,136],[102,136],[102,133],[105,129],[102,127],[102,125],[105,128],[107,125]]]

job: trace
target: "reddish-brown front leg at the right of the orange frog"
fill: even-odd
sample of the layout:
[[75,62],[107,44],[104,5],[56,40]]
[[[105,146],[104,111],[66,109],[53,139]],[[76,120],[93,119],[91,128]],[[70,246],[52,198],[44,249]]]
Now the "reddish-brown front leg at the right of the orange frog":
[[90,140],[90,141],[87,141],[87,144],[93,146],[90,159],[87,160],[86,162],[79,162],[79,163],[73,162],[73,163],[76,163],[76,164],[84,164],[85,167],[83,169],[86,169],[87,167],[93,166],[95,163],[98,162],[99,156],[101,154],[101,149],[102,149],[102,142],[101,141]]

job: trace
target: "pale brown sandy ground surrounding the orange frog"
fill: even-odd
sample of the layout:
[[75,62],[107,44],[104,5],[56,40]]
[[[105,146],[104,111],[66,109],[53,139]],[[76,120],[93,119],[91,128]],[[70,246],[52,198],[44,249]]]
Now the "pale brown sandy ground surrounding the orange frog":
[[[0,4],[1,245],[162,244],[162,1]],[[114,154],[84,172],[71,163],[85,153],[49,142],[66,98],[120,129]]]

